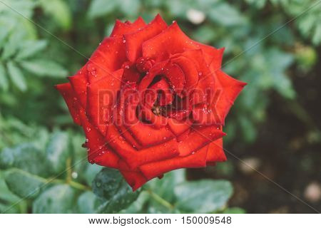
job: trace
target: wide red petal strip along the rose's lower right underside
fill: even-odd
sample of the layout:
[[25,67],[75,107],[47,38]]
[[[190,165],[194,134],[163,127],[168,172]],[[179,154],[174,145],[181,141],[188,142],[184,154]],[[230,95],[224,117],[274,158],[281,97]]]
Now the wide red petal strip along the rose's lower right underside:
[[205,146],[200,150],[196,151],[193,155],[185,157],[174,157],[168,160],[162,160],[158,162],[151,162],[146,165],[141,165],[140,170],[143,175],[151,180],[154,177],[158,177],[165,172],[170,170],[177,170],[180,168],[195,168],[206,166],[206,154],[208,147]]

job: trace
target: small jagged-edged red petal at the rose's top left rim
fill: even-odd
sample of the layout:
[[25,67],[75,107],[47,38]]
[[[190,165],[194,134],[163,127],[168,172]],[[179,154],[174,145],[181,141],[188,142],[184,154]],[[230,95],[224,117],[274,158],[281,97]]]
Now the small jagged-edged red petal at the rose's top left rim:
[[133,33],[135,31],[138,31],[139,28],[143,28],[144,26],[146,26],[146,23],[141,18],[141,16],[139,16],[138,19],[132,24],[126,24],[119,20],[116,20],[115,26],[113,26],[113,31],[111,32],[111,37],[123,36],[123,34]]

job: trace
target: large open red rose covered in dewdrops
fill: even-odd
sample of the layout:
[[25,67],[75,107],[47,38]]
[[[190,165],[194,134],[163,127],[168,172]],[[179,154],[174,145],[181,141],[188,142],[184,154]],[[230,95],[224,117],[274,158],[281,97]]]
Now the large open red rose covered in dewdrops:
[[133,190],[170,170],[225,161],[222,126],[245,83],[220,70],[222,56],[159,15],[116,21],[56,86],[83,127],[88,160],[120,170]]

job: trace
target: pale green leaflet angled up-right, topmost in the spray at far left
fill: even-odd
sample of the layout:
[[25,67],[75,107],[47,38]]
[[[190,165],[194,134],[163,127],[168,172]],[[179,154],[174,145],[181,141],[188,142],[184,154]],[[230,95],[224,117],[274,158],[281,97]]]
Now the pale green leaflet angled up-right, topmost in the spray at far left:
[[47,41],[26,41],[22,44],[16,59],[24,59],[34,56],[36,53],[43,51],[47,46]]

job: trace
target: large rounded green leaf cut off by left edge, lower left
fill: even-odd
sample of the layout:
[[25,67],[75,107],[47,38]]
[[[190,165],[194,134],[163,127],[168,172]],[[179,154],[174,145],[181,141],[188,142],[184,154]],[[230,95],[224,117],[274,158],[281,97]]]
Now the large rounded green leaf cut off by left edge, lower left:
[[49,175],[50,164],[43,152],[30,143],[14,148],[6,148],[0,152],[0,168],[16,167],[34,175]]

